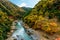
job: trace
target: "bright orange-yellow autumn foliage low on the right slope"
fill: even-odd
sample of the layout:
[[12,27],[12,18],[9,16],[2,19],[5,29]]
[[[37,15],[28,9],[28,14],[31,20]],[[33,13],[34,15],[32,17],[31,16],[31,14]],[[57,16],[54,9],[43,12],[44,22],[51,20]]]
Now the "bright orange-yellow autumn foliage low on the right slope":
[[55,32],[58,32],[59,30],[58,29],[58,25],[56,22],[52,22],[52,21],[49,21],[48,19],[46,18],[43,18],[43,20],[37,20],[35,22],[35,25],[32,27],[33,29],[40,29],[40,30],[44,30],[45,32],[47,33],[55,33]]

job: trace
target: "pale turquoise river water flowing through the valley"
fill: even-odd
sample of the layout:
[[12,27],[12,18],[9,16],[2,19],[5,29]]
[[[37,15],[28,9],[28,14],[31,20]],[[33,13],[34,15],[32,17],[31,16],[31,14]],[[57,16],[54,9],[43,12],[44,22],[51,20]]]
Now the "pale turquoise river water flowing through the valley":
[[30,36],[25,32],[22,26],[22,21],[16,22],[16,31],[12,34],[12,37],[16,40],[32,40]]

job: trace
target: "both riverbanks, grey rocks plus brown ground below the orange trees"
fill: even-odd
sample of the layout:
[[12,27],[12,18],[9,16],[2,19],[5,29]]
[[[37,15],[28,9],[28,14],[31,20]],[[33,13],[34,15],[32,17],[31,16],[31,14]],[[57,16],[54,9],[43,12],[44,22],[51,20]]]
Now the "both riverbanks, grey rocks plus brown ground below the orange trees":
[[[34,30],[32,28],[29,28],[29,26],[25,23],[23,23],[22,25],[26,29],[26,33],[33,40],[55,40],[57,37],[60,36],[60,33],[59,34],[55,33],[55,34],[50,35],[42,30]],[[12,26],[11,33],[15,31],[14,29],[15,29],[15,26]],[[14,40],[14,38],[12,38],[11,35],[7,40]]]

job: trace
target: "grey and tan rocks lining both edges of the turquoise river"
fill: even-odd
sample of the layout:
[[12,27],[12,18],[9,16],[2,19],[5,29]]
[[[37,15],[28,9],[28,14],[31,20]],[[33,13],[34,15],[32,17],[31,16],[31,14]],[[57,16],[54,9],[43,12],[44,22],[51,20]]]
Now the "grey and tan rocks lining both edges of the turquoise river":
[[[22,24],[22,25],[24,25],[24,24]],[[34,31],[31,28],[25,27],[25,26],[24,26],[24,29],[25,29],[27,35],[29,35],[32,40],[40,40],[40,36],[37,34],[36,31]],[[6,39],[6,40],[16,40],[16,38],[12,37],[12,34],[14,33],[14,31],[15,31],[15,26],[12,26],[11,32],[8,33],[10,36],[8,36],[8,39]],[[19,40],[21,40],[21,39],[19,39]]]

